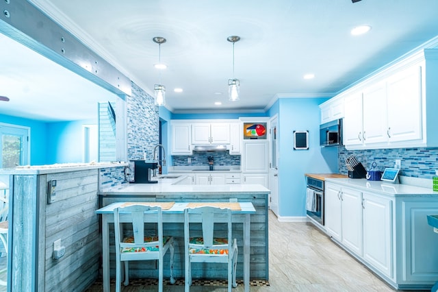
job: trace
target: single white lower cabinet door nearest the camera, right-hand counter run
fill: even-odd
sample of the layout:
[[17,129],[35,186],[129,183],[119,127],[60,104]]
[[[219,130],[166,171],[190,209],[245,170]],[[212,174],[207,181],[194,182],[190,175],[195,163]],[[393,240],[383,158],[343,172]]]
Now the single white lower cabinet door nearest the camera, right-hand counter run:
[[363,193],[363,259],[392,278],[392,200]]

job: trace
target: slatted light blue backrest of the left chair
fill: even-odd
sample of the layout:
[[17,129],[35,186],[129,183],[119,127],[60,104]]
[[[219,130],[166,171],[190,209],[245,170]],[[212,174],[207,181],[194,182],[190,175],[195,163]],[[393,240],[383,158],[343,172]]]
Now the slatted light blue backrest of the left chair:
[[[144,215],[148,215],[147,219],[144,219]],[[120,223],[132,224],[133,242],[123,242],[122,227]],[[144,223],[156,223],[158,234],[146,234]],[[146,231],[150,231],[148,228]],[[146,205],[131,205],[120,206],[114,209],[114,232],[116,234],[116,251],[120,251],[121,248],[142,248],[158,247],[159,252],[163,247],[163,221],[162,221],[162,208],[160,206],[146,206]],[[156,241],[144,242],[145,236],[157,236]]]

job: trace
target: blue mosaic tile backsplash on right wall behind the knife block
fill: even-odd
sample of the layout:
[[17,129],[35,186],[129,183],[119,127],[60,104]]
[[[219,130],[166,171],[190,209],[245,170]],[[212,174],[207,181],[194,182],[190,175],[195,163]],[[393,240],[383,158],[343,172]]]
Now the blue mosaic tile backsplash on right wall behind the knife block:
[[400,175],[413,178],[431,179],[438,169],[438,148],[347,150],[339,147],[339,173],[348,173],[345,160],[351,155],[356,156],[367,170],[370,170],[372,162],[376,162],[377,169],[383,171],[385,167],[394,167],[396,159],[400,159]]

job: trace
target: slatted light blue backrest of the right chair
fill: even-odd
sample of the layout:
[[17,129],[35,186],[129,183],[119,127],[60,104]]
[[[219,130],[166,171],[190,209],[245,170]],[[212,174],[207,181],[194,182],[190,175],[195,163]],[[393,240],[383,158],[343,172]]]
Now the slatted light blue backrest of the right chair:
[[[190,239],[190,222],[202,223],[202,237],[203,245],[200,247],[198,244],[188,243]],[[214,248],[214,238],[224,237],[215,236],[214,224],[215,223],[227,223],[227,239],[228,239],[228,249],[231,250],[232,245],[232,224],[231,224],[231,210],[229,208],[216,208],[216,207],[196,207],[196,208],[186,208],[184,210],[184,237],[186,243],[189,247],[196,246],[201,249]],[[223,245],[222,245],[223,246]]]

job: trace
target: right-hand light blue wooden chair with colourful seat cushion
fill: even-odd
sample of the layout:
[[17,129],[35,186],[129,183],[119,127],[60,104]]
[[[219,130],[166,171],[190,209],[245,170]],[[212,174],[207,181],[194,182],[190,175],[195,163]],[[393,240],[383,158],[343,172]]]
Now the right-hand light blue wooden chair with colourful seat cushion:
[[[197,217],[197,218],[196,218]],[[227,238],[216,237],[214,225],[218,218],[226,218]],[[199,222],[201,218],[202,236],[190,236],[190,222]],[[237,265],[237,241],[232,239],[231,210],[229,208],[197,207],[184,210],[185,243],[185,291],[192,284],[192,263],[226,263],[228,265],[228,291],[237,287],[235,269]]]

